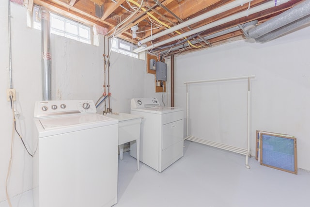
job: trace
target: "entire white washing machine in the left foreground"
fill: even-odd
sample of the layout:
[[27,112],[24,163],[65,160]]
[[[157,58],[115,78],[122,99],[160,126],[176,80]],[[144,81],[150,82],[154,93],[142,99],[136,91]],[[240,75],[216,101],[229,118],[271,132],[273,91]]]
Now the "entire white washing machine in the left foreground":
[[118,120],[93,100],[37,101],[35,207],[111,207],[117,202]]

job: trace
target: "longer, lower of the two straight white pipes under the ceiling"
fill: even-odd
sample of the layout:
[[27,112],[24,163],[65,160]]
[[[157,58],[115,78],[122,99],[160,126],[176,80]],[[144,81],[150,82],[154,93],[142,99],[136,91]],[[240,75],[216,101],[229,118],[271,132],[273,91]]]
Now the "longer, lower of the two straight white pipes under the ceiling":
[[[204,30],[208,30],[208,29],[214,28],[216,26],[219,26],[221,24],[225,24],[227,22],[230,22],[230,21],[242,18],[244,16],[249,16],[249,15],[255,14],[257,12],[261,12],[263,10],[272,8],[272,7],[276,6],[276,5],[279,6],[280,4],[286,3],[288,1],[290,1],[290,0],[281,0],[281,1],[278,0],[276,2],[275,1],[268,1],[267,3],[261,4],[259,6],[255,6],[253,8],[248,9],[248,10],[245,10],[245,11],[239,12],[237,14],[234,14],[234,15],[231,15],[231,16],[227,16],[225,18],[222,18],[222,19],[219,19],[217,21],[211,22],[209,24],[206,24],[206,25],[204,25],[202,27],[199,27],[199,28],[196,28],[194,30],[185,32],[183,34],[179,34],[179,35],[174,36],[174,37],[171,37],[171,38],[166,39],[166,40],[164,40],[162,42],[153,44],[152,46],[149,46],[149,47],[146,47],[146,48],[143,48],[143,47],[137,48],[137,49],[134,50],[134,52],[135,53],[139,53],[139,52],[143,52],[143,51],[146,51],[146,50],[149,50],[149,49],[152,49],[152,48],[156,48],[156,47],[165,45],[167,43],[170,43],[172,41],[175,41],[175,40],[178,40],[178,39],[182,39],[182,38],[184,38],[186,36],[190,36],[192,34],[195,34],[195,33],[198,33],[198,32],[204,31]],[[177,26],[179,26],[179,25],[177,25]],[[177,27],[177,26],[175,26],[175,27]],[[176,30],[175,27],[172,27],[173,31]]]

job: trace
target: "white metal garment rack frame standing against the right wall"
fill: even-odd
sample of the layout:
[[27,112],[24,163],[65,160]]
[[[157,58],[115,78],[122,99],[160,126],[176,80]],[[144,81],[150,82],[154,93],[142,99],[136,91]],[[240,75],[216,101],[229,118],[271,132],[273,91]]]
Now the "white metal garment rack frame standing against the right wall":
[[[250,150],[250,79],[254,78],[255,75],[250,75],[250,76],[239,76],[239,77],[232,77],[232,78],[222,78],[222,79],[211,79],[211,80],[196,80],[196,81],[188,81],[188,82],[184,82],[186,84],[186,140],[190,140],[193,142],[197,142],[197,143],[202,143],[202,144],[206,144],[206,145],[210,145],[210,146],[214,146],[220,149],[225,149],[228,151],[232,151],[235,153],[239,153],[242,155],[246,155],[246,167],[249,169],[250,166],[248,165],[248,157],[251,156],[251,150]],[[223,144],[223,143],[217,143],[214,141],[209,141],[209,140],[203,140],[197,137],[193,137],[193,136],[189,136],[188,135],[188,118],[189,118],[189,108],[188,108],[188,85],[189,84],[194,84],[194,83],[203,83],[203,82],[219,82],[219,81],[227,81],[227,80],[242,80],[242,79],[248,79],[248,126],[247,126],[247,130],[248,130],[248,134],[247,134],[247,148],[239,148],[239,147],[235,147],[232,145],[227,145],[227,144]]]

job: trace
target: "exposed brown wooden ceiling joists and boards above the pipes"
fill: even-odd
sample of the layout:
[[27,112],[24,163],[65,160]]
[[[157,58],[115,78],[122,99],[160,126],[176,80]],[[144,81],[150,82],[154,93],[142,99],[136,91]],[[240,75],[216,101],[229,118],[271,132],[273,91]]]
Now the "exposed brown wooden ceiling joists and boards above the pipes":
[[[179,35],[180,33],[188,32],[192,29],[197,29],[214,21],[220,20],[221,18],[232,16],[241,11],[245,11],[248,9],[249,4],[250,7],[253,8],[266,2],[274,2],[274,0],[252,0],[250,3],[245,2],[243,5],[241,5],[245,0],[28,0],[28,2],[30,2],[28,3],[28,9],[31,9],[32,1],[33,3],[47,7],[47,9],[50,11],[56,12],[62,16],[67,16],[81,23],[85,23],[87,25],[96,24],[107,28],[108,33],[106,36],[108,37],[111,37],[113,32],[117,29],[115,32],[116,36],[134,44],[137,44],[138,41],[148,38],[151,35],[162,32],[167,28],[178,25],[184,21],[187,21],[188,19],[200,16],[206,12],[212,11],[231,2],[236,2],[238,4],[240,1],[240,6],[237,5],[237,7],[232,8],[229,11],[222,12],[220,14],[206,18],[200,22],[195,22],[192,25],[180,28],[177,32],[171,32],[171,30],[169,34],[152,40],[152,43],[156,44],[158,42],[165,41],[171,37],[174,37],[175,35]],[[135,8],[130,8],[129,3],[126,3],[126,1],[129,1],[132,6],[139,8],[139,10],[135,11]],[[210,40],[209,42],[207,42],[203,37],[215,32],[220,32],[228,28],[235,27],[238,24],[247,23],[252,20],[258,20],[259,23],[262,23],[269,18],[273,18],[274,16],[281,14],[282,12],[302,1],[305,0],[289,0],[288,2],[281,3],[276,7],[272,7],[262,12],[230,21],[215,28],[208,29],[204,32],[200,32],[199,36],[191,35],[191,38],[194,38],[192,39],[192,42],[197,46],[202,45],[201,48],[207,48],[212,45],[225,43],[238,38],[245,38],[241,30],[219,36]],[[142,5],[140,5],[141,3]],[[98,6],[100,6],[100,12],[98,12]],[[99,13],[100,15],[98,15]],[[155,26],[154,23],[151,23],[148,17],[151,18],[153,22],[160,22],[163,26],[156,28],[157,26]],[[153,24],[152,31],[150,30],[151,24]],[[138,37],[133,39],[132,31],[130,28],[135,25],[139,26],[139,30],[137,32],[144,32],[138,33]],[[172,40],[173,41],[166,45],[173,45],[174,43],[180,41],[175,40],[175,38],[172,38]],[[150,42],[146,43],[147,46],[150,46],[150,44]],[[184,48],[182,51],[198,49],[197,47],[195,48],[195,45],[192,45],[189,42],[188,44],[190,47]],[[159,48],[160,47],[158,47],[155,51],[160,51]]]

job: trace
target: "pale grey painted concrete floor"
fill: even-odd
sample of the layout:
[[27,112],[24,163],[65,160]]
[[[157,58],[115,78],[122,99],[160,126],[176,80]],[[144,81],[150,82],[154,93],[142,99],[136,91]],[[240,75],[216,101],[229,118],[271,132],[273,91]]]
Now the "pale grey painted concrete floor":
[[[113,207],[309,207],[310,172],[298,175],[245,156],[185,141],[184,157],[162,173],[124,153],[119,160],[118,203]],[[12,199],[33,207],[32,191]],[[0,202],[0,207],[8,207]]]

